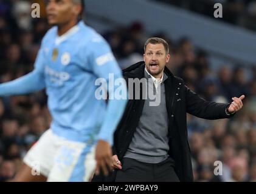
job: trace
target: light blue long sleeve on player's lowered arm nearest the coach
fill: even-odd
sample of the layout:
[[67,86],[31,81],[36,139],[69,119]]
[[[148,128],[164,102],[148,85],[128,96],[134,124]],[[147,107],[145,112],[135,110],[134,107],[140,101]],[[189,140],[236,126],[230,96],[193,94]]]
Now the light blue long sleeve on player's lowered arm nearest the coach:
[[[109,144],[112,144],[114,130],[116,130],[117,124],[122,118],[127,102],[127,98],[115,98],[114,93],[117,90],[117,87],[119,91],[122,90],[123,92],[127,92],[126,84],[114,85],[114,81],[116,79],[122,79],[123,76],[117,61],[105,40],[92,42],[91,53],[89,56],[89,61],[91,62],[94,74],[97,75],[98,78],[105,79],[108,86],[109,84],[112,84],[112,87],[108,87],[109,100],[106,108],[106,116],[98,135],[98,139],[103,139],[108,141]],[[111,77],[114,78],[112,81],[109,80]]]

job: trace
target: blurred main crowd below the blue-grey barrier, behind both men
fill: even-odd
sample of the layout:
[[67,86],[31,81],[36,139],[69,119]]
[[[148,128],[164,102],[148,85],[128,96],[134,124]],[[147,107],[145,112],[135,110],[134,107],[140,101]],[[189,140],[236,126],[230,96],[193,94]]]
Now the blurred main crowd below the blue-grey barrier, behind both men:
[[[44,17],[30,17],[30,6],[28,1],[0,0],[1,83],[33,69],[49,28]],[[209,53],[195,48],[189,38],[173,41],[161,32],[148,35],[140,22],[103,34],[122,69],[143,60],[144,42],[152,36],[168,41],[167,67],[203,98],[230,102],[234,96],[246,96],[243,109],[232,119],[209,121],[188,115],[195,181],[256,181],[256,65],[245,69],[243,64],[221,64],[213,70]],[[0,181],[15,175],[22,157],[50,122],[44,91],[0,98]]]

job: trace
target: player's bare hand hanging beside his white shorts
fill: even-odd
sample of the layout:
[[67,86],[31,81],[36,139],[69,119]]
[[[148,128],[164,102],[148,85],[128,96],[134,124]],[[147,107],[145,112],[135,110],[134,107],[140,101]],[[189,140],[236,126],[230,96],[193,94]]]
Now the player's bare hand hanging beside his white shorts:
[[108,176],[109,170],[112,170],[112,149],[107,141],[98,141],[95,159],[97,162],[95,174],[99,175],[100,170],[102,170],[104,175]]

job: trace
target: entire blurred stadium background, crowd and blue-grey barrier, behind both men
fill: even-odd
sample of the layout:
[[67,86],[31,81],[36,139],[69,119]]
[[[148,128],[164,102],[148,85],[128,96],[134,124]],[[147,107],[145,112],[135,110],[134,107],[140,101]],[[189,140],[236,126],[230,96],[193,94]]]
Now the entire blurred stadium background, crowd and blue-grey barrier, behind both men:
[[[41,5],[41,18],[31,5]],[[213,5],[223,5],[214,18]],[[120,67],[142,60],[147,38],[170,44],[167,67],[210,101],[246,95],[235,118],[207,121],[188,115],[195,181],[256,181],[256,1],[86,0],[85,21],[112,47]],[[33,69],[49,26],[43,0],[0,0],[0,82]],[[49,128],[45,92],[0,99],[0,181],[12,178],[22,157]],[[213,163],[223,162],[223,176]]]

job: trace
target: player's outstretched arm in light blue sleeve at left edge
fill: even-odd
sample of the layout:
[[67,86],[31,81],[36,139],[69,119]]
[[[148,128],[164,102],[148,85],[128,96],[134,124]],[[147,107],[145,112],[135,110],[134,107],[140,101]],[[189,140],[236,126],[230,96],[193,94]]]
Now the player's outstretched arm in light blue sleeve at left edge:
[[44,89],[43,62],[43,51],[40,49],[33,72],[13,81],[0,84],[0,96],[24,95]]

